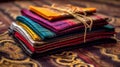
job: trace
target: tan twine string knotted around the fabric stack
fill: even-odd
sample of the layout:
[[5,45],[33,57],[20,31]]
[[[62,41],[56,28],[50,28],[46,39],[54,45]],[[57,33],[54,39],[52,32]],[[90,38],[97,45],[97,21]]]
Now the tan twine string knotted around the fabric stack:
[[[75,13],[76,11],[78,11],[79,7],[76,7],[74,9],[72,9],[72,10],[70,10],[70,9],[66,10],[66,9],[62,9],[62,8],[59,8],[59,7],[55,7],[55,4],[52,4],[52,6],[44,5],[44,7],[48,7],[48,8],[52,8],[52,9],[56,9],[56,10],[68,13],[68,14],[72,15],[75,19],[79,20],[85,27],[85,30],[84,30],[84,42],[86,42],[87,29],[88,28],[89,28],[89,30],[92,29],[93,20],[90,17],[86,16],[85,11],[83,11],[84,15],[82,15],[82,14]],[[90,24],[88,24],[85,19],[90,20]]]

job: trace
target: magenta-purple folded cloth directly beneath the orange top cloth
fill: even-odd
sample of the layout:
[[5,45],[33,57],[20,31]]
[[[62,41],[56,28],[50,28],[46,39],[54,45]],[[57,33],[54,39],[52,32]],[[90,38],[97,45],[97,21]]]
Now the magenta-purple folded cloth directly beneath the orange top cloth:
[[[71,31],[84,28],[84,24],[82,24],[80,21],[78,21],[76,19],[66,19],[66,20],[50,22],[50,21],[47,21],[47,20],[41,18],[37,14],[30,12],[27,9],[23,9],[21,11],[21,13],[22,13],[22,15],[30,18],[31,20],[35,21],[36,23],[39,23],[40,25],[43,25],[44,27],[50,29],[51,31],[55,32],[56,34],[64,34],[64,33],[66,33],[65,31],[67,31],[69,33]],[[105,24],[108,24],[106,21],[106,19],[108,19],[108,18],[106,16],[95,14],[95,15],[91,16],[91,18],[93,20],[93,27],[95,25],[98,25],[100,27]],[[90,23],[89,22],[90,20],[86,19],[86,21],[88,23]]]

